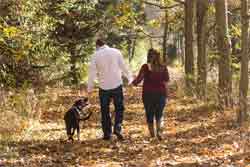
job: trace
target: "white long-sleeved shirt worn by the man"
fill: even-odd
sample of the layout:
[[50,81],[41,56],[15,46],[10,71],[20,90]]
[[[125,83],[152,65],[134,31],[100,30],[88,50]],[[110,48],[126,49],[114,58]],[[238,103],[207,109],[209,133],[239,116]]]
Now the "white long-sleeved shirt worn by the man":
[[123,84],[122,75],[128,79],[129,83],[132,81],[132,75],[121,52],[104,45],[92,56],[89,66],[88,92],[92,91],[95,79],[98,79],[99,87],[103,90],[117,88]]

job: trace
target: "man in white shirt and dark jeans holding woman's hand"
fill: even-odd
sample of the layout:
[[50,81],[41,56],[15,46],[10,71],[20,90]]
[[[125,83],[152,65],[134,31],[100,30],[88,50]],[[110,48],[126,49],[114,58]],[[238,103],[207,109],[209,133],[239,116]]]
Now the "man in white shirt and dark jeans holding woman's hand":
[[112,134],[109,108],[112,99],[115,106],[114,134],[119,140],[123,140],[121,134],[124,112],[122,74],[128,79],[129,83],[132,81],[131,73],[124,63],[121,52],[107,46],[102,39],[98,39],[96,41],[96,52],[89,66],[88,93],[91,93],[94,80],[97,78],[104,140],[110,140]]

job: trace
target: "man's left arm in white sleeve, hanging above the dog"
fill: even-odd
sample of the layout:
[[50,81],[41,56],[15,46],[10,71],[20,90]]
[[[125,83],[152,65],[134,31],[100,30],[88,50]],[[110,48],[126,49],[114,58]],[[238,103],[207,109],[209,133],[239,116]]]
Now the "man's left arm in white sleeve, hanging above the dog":
[[95,56],[92,57],[90,65],[89,65],[89,77],[88,77],[88,93],[90,93],[94,88],[94,81],[97,78],[97,69],[96,69],[96,62]]

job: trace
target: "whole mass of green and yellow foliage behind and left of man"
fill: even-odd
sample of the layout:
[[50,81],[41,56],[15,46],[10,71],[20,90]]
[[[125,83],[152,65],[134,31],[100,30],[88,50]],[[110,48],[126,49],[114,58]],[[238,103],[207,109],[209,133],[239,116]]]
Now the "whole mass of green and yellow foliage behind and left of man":
[[131,44],[145,22],[137,0],[20,0],[4,6],[0,83],[5,87],[83,83],[98,36],[133,58]]

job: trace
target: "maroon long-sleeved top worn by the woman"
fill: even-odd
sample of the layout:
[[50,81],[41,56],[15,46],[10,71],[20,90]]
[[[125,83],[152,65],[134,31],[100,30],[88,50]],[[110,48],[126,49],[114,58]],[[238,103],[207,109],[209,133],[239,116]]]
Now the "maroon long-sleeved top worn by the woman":
[[133,85],[138,85],[142,80],[143,90],[142,95],[145,93],[159,93],[167,96],[166,82],[169,81],[168,69],[165,68],[160,72],[150,71],[147,64],[142,65],[139,75],[132,82]]

